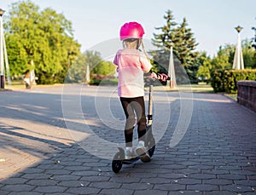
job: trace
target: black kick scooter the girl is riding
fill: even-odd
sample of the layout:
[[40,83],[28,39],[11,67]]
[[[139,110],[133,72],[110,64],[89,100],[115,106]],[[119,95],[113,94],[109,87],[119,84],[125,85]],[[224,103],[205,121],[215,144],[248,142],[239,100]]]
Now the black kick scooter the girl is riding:
[[[152,133],[152,121],[153,121],[153,115],[152,115],[152,105],[153,105],[153,85],[149,85],[149,93],[148,93],[148,120],[147,120],[147,133],[145,137],[145,146],[148,151],[148,155],[151,158],[154,154],[155,149],[155,140]],[[131,164],[135,163],[137,160],[140,159],[139,156],[136,158],[131,159],[125,159],[125,150],[122,147],[119,147],[119,152],[117,152],[112,161],[112,170],[114,173],[119,173],[119,170],[122,169],[123,164]]]

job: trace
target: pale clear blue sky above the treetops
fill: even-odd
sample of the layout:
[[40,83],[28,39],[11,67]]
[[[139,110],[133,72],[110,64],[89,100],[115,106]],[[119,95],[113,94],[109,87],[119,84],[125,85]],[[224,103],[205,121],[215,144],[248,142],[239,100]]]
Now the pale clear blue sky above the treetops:
[[[0,8],[8,13],[11,3],[4,0]],[[40,9],[51,8],[64,14],[73,24],[75,39],[81,51],[96,44],[119,37],[119,28],[125,22],[137,21],[143,25],[145,38],[160,33],[155,27],[164,26],[163,16],[170,9],[180,24],[186,18],[199,45],[198,51],[213,56],[219,46],[236,44],[236,26],[242,26],[241,39],[253,38],[256,27],[255,0],[32,0]],[[3,17],[4,20],[4,17]]]

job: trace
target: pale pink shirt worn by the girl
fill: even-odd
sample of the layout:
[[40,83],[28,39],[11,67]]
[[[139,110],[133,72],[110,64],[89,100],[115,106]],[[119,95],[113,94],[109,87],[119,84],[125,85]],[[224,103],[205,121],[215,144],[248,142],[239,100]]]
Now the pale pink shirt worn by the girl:
[[143,52],[137,49],[119,49],[113,63],[118,66],[119,97],[133,98],[144,96],[144,72],[152,68]]

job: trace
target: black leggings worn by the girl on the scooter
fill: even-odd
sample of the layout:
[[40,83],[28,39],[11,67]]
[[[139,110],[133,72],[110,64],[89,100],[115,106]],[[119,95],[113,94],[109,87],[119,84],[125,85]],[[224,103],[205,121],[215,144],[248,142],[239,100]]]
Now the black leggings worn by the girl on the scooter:
[[[143,96],[136,98],[120,97],[123,106],[126,123],[125,123],[125,146],[132,146],[133,128],[137,124],[137,135],[139,141],[144,141],[146,134],[147,119],[145,116],[145,102]],[[136,120],[137,118],[137,120]]]

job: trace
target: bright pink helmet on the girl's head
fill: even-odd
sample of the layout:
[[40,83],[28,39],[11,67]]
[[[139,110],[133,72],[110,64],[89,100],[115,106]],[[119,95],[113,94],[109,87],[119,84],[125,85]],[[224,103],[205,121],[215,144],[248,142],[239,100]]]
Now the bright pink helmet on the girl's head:
[[143,26],[135,21],[127,22],[120,29],[120,40],[127,38],[143,38]]

